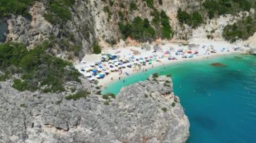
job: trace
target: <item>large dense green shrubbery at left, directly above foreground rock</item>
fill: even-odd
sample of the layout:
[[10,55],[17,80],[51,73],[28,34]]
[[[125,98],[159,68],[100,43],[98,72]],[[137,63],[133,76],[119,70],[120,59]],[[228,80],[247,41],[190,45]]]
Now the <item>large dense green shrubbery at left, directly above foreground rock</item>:
[[64,91],[65,81],[79,81],[79,72],[71,68],[71,63],[50,56],[44,46],[28,51],[23,44],[6,43],[0,45],[0,70],[11,77],[20,74],[21,79],[13,81],[19,91],[36,91],[46,86],[44,92]]

